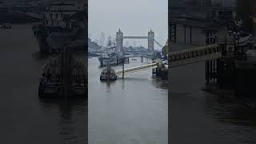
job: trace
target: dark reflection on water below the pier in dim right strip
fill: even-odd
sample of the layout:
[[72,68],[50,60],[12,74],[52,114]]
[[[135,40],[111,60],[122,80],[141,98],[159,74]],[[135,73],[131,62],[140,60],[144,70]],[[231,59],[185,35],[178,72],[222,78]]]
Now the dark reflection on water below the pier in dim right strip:
[[245,102],[244,98],[206,97],[206,112],[213,114],[219,122],[256,127],[255,99]]

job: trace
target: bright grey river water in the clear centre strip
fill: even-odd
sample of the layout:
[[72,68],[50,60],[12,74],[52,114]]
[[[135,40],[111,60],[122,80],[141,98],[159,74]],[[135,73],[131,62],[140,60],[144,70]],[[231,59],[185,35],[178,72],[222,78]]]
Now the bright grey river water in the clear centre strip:
[[[125,68],[142,65],[136,59]],[[101,82],[98,66],[98,58],[89,59],[89,143],[167,143],[167,81],[152,78],[152,71],[145,70]]]

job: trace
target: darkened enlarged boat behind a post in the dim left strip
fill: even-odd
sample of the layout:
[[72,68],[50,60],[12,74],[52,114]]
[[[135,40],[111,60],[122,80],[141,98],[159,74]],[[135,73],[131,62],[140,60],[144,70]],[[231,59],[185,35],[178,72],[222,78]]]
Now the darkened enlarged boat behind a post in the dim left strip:
[[[48,63],[42,72],[42,78],[38,87],[38,96],[62,97],[64,94],[64,66],[62,55]],[[82,60],[71,58],[70,62],[70,95],[86,96],[86,65]]]

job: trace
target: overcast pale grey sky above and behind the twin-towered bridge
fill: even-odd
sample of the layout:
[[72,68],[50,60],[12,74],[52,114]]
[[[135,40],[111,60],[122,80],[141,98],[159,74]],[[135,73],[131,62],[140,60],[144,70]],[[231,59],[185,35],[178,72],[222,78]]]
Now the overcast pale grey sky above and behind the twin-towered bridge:
[[[168,0],[89,0],[88,6],[89,34],[93,40],[100,38],[101,32],[115,38],[119,28],[124,35],[146,36],[152,28],[155,39],[162,45],[166,43]],[[133,45],[133,40],[129,43]],[[136,44],[147,47],[147,40],[136,40]]]

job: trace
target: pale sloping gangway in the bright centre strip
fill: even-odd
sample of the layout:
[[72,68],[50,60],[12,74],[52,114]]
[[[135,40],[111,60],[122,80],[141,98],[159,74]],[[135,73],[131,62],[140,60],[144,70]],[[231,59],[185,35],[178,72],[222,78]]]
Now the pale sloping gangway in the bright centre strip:
[[[130,74],[130,73],[138,72],[138,71],[141,71],[141,70],[154,69],[156,67],[158,67],[158,62],[150,63],[150,64],[142,65],[142,66],[135,66],[135,67],[128,68],[128,69],[124,70],[124,74]],[[117,71],[115,71],[115,74],[116,75],[121,75],[121,74],[123,74],[123,71],[122,70],[117,70]]]

